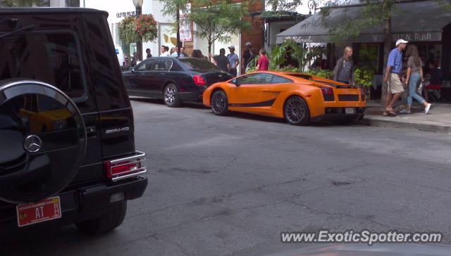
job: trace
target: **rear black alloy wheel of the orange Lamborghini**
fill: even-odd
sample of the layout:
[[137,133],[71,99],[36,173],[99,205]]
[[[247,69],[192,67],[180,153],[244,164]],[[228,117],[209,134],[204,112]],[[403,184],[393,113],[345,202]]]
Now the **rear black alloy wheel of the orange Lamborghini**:
[[309,107],[299,96],[291,97],[285,102],[283,115],[292,125],[307,125],[310,122]]

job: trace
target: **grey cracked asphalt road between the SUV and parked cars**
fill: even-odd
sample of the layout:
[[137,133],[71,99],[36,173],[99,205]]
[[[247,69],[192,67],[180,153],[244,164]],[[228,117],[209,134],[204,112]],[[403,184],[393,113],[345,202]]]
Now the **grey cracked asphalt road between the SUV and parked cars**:
[[0,255],[265,255],[280,231],[441,231],[451,243],[451,136],[133,101],[149,186],[106,236],[73,226]]

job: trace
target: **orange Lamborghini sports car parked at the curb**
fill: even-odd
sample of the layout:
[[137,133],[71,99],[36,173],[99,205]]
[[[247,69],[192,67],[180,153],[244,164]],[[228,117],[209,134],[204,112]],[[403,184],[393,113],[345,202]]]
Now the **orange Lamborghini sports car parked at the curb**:
[[204,91],[216,115],[238,111],[285,118],[305,125],[330,120],[350,123],[364,116],[364,92],[321,77],[290,72],[253,72],[218,82]]

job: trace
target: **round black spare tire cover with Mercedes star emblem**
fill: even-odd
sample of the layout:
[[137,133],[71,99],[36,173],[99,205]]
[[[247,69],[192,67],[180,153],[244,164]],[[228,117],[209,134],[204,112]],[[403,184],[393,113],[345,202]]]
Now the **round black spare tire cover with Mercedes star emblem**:
[[65,188],[86,150],[75,103],[50,84],[0,82],[0,200],[32,203]]

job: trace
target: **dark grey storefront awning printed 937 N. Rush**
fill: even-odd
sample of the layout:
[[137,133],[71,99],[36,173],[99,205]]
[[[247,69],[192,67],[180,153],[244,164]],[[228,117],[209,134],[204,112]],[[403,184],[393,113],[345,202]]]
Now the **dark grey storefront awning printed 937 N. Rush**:
[[[340,24],[345,20],[355,20],[362,14],[362,5],[342,6],[330,9],[327,24]],[[451,12],[443,8],[436,0],[410,1],[399,3],[393,8],[392,34],[393,41],[441,41],[443,27],[451,23]],[[321,13],[311,15],[302,22],[277,34],[277,44],[288,39],[299,43],[332,42],[328,27],[321,22]],[[346,42],[383,42],[383,27],[368,27],[358,37],[349,37],[340,41]]]

